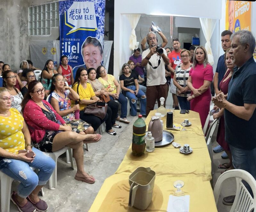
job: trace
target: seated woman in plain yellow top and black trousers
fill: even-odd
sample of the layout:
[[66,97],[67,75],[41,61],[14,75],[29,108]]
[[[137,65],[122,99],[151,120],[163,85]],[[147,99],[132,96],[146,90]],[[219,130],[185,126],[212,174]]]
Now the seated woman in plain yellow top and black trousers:
[[[90,123],[94,131],[96,131],[99,128],[99,126],[105,121],[106,132],[111,135],[116,135],[116,132],[112,130],[112,110],[109,107],[104,119],[100,119],[99,117],[94,116],[93,114],[84,113],[84,109],[88,104],[100,101],[100,99],[95,95],[91,84],[87,82],[87,79],[87,71],[83,67],[78,68],[76,71],[76,77],[72,89],[76,91],[76,93],[78,93],[80,97],[80,100],[78,102],[80,107],[80,118],[85,122]],[[74,104],[74,101],[72,101],[72,104]]]

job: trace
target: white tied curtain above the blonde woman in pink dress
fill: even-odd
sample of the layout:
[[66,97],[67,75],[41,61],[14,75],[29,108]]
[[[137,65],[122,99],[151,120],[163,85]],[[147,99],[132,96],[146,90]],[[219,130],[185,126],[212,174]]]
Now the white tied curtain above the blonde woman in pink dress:
[[212,55],[212,48],[211,48],[211,37],[213,30],[215,28],[217,20],[216,19],[205,19],[205,18],[200,18],[200,23],[203,29],[204,37],[206,40],[205,43],[205,49],[207,52],[207,57],[208,57],[208,62],[213,65],[214,60],[213,60],[213,55]]

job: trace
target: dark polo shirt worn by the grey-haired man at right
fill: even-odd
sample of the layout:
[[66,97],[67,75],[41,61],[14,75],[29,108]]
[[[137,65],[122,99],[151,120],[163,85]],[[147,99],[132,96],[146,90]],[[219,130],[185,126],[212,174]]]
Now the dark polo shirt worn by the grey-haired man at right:
[[[237,106],[256,104],[256,63],[251,57],[234,73],[228,84],[228,102]],[[256,148],[256,110],[249,121],[239,118],[227,109],[224,111],[225,140],[241,149]]]

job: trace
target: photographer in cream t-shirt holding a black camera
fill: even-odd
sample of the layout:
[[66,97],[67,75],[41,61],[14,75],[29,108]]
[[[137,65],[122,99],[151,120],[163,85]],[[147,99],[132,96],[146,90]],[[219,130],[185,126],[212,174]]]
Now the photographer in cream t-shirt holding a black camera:
[[[160,107],[160,98],[167,98],[166,79],[164,64],[169,64],[166,50],[157,45],[157,37],[154,32],[147,35],[149,49],[143,51],[141,66],[147,67],[147,108],[146,116],[150,110],[154,110],[157,99],[158,107]],[[165,103],[164,103],[165,106]]]

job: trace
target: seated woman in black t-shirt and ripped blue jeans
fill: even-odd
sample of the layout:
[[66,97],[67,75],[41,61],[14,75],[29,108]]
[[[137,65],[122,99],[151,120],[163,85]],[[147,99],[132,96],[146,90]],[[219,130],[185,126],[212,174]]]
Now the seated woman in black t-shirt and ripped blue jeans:
[[130,99],[131,116],[137,115],[136,101],[140,99],[140,114],[146,116],[146,95],[139,89],[137,76],[131,72],[129,64],[125,63],[122,66],[123,74],[119,76],[122,94]]

